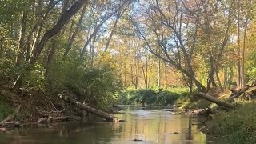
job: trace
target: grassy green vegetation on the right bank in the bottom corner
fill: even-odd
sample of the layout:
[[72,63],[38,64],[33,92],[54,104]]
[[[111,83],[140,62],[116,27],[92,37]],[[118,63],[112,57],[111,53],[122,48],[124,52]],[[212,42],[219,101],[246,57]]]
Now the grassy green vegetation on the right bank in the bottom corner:
[[221,112],[207,122],[208,134],[213,134],[227,144],[256,142],[256,105],[247,103],[237,110]]

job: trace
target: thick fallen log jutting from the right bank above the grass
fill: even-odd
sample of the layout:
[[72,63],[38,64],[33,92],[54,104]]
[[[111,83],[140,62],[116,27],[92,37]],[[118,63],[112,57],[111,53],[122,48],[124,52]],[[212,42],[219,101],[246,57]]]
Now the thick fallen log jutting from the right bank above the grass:
[[224,106],[228,109],[235,109],[235,106],[228,103],[228,102],[224,102],[224,101],[221,101],[219,100],[218,98],[214,98],[213,96],[210,96],[209,94],[205,94],[205,93],[202,93],[202,92],[199,92],[199,95],[202,96],[202,98],[205,98],[206,100],[210,101],[210,102],[214,102],[216,103],[218,106]]

